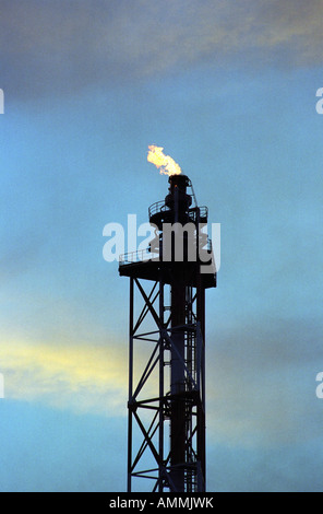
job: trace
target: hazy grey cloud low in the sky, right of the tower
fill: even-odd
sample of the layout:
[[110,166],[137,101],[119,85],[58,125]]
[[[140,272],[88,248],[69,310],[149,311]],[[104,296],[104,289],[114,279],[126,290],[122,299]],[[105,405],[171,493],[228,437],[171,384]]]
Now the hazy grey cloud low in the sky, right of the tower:
[[206,341],[208,440],[252,448],[320,437],[321,334],[321,320],[264,317],[213,332]]

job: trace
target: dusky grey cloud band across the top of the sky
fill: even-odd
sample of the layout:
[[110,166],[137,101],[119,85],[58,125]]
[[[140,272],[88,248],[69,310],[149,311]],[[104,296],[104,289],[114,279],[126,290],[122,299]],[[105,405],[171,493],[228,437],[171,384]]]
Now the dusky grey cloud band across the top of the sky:
[[322,63],[320,0],[3,0],[1,86],[10,96],[124,85],[201,63]]

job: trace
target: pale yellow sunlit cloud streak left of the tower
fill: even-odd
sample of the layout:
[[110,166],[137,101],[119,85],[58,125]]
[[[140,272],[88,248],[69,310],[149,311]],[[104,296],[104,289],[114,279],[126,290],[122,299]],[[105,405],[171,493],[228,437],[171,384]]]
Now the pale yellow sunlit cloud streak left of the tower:
[[1,343],[1,373],[8,399],[36,401],[81,413],[125,412],[128,364],[109,344]]

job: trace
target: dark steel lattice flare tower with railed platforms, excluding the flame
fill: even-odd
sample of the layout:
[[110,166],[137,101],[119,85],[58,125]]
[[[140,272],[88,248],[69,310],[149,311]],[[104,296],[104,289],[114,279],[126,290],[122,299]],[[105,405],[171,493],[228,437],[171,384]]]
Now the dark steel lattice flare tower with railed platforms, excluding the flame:
[[211,241],[199,230],[207,226],[207,208],[196,206],[186,175],[169,184],[165,201],[148,210],[158,229],[148,253],[119,262],[130,278],[129,492],[134,478],[151,479],[153,492],[205,491],[205,289],[216,287],[216,272]]

